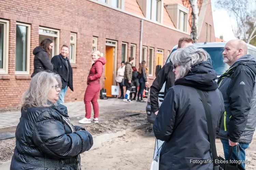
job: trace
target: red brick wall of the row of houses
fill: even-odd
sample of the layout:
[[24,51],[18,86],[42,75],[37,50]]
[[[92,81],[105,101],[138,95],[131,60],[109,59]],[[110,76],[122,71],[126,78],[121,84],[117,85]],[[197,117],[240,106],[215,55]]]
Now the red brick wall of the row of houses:
[[[86,80],[91,67],[90,55],[93,36],[98,37],[97,49],[104,55],[105,40],[112,39],[117,41],[116,70],[121,62],[122,41],[128,43],[127,57],[130,56],[130,44],[136,44],[136,66],[139,68],[141,27],[141,19],[139,18],[88,0],[84,0],[83,3],[79,0],[73,0],[72,3],[63,3],[60,0],[5,0],[0,1],[0,11],[0,18],[10,21],[9,74],[0,75],[0,107],[18,106],[23,92],[29,86],[30,75],[33,72],[34,55],[32,51],[39,44],[39,26],[60,30],[59,48],[64,43],[70,43],[70,32],[77,33],[76,64],[72,65],[74,92],[68,88],[65,102],[81,101],[84,98],[84,92],[87,87]],[[16,22],[31,24],[30,75],[15,75]],[[164,62],[167,51],[177,44],[179,38],[189,36],[152,22],[144,21],[143,24],[142,45],[148,49],[147,61],[149,61],[149,48],[154,48],[154,73],[157,48],[164,50]],[[212,34],[214,35],[214,32]],[[100,82],[101,87],[104,87],[104,72]],[[153,79],[149,80],[149,83],[152,82]]]

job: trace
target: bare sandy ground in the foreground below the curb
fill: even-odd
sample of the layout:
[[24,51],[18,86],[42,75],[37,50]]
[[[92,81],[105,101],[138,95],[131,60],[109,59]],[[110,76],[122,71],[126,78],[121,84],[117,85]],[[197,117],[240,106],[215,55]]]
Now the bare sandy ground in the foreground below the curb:
[[[149,132],[151,131],[151,132]],[[256,169],[256,140],[246,150],[251,163],[246,170]],[[155,137],[151,128],[137,130],[105,142],[101,148],[81,155],[83,170],[149,170],[153,159]],[[224,157],[222,143],[216,139],[218,156]]]

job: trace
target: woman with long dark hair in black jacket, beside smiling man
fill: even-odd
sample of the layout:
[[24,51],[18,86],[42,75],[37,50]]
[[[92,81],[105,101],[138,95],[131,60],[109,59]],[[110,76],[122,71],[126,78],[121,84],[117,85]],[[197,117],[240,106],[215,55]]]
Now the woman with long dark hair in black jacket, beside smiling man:
[[34,71],[31,78],[38,72],[44,70],[53,71],[53,64],[50,60],[51,50],[53,48],[53,41],[46,38],[41,41],[40,46],[35,47],[33,50],[34,56]]

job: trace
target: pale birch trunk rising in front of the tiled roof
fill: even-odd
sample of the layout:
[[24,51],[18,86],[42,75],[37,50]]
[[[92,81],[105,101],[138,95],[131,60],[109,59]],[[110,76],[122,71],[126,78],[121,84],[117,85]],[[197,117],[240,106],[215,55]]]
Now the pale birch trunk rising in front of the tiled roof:
[[190,37],[194,40],[194,43],[198,42],[198,6],[197,0],[189,0],[192,8],[192,23],[191,23],[191,33]]

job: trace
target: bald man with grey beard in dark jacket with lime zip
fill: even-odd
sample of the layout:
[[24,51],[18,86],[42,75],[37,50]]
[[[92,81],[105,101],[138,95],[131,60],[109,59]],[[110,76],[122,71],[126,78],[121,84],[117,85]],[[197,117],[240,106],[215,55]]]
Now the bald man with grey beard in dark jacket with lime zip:
[[[256,126],[256,61],[247,54],[247,44],[242,40],[230,40],[224,47],[224,63],[230,68],[218,79],[225,113],[222,118],[221,138],[225,159],[231,146],[239,145],[239,160],[245,161],[245,149],[252,141]],[[237,147],[233,147],[231,159],[237,160]],[[242,162],[244,168],[245,164]]]

